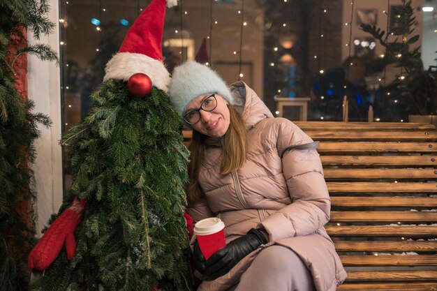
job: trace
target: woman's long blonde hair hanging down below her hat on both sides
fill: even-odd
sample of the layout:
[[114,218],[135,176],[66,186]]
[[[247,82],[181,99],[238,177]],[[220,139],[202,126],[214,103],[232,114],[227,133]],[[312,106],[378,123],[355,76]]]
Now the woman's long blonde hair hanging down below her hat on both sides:
[[[232,105],[228,106],[230,112],[230,125],[223,135],[223,151],[221,154],[220,174],[230,174],[237,171],[246,161],[246,127],[240,114]],[[199,200],[202,189],[199,186],[200,167],[205,158],[206,135],[193,130],[193,137],[188,149],[191,151],[188,163],[188,200]]]

